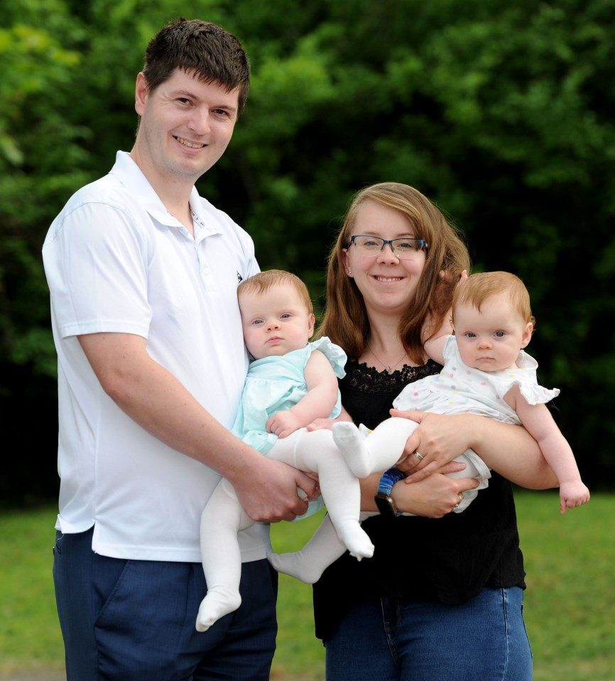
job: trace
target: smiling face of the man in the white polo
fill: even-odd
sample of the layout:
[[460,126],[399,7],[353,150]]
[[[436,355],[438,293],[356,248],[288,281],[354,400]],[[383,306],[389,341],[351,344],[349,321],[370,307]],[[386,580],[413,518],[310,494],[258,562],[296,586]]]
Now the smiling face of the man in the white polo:
[[138,74],[135,109],[141,123],[132,155],[153,184],[194,184],[232,138],[239,90],[227,92],[182,70],[153,92],[146,85]]

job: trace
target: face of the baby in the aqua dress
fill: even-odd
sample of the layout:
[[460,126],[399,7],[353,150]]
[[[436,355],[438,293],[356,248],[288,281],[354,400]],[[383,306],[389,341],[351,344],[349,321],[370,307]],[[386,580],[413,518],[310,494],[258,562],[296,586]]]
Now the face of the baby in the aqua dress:
[[293,284],[242,291],[239,309],[246,348],[256,360],[305,348],[314,333],[314,315]]

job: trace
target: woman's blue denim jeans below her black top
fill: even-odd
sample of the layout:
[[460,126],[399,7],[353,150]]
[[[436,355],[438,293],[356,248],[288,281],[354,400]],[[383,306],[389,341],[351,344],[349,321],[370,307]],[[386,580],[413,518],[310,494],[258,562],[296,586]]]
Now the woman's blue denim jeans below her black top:
[[326,641],[327,681],[531,681],[523,590],[462,605],[361,602]]

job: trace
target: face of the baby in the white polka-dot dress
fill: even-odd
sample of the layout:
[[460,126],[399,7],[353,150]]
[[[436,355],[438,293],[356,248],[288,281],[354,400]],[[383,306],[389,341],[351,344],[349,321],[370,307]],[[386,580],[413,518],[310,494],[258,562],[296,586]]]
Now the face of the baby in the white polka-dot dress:
[[459,355],[474,369],[499,371],[516,366],[519,350],[530,342],[532,328],[506,294],[490,296],[480,311],[472,304],[455,306]]

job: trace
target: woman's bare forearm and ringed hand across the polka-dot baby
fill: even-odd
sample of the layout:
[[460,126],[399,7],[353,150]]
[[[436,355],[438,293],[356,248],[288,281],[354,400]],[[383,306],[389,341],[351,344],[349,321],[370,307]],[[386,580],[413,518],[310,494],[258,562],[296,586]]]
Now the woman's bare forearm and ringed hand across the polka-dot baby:
[[[418,482],[467,449],[472,449],[489,468],[528,489],[557,487],[557,478],[543,457],[538,443],[521,426],[499,423],[477,414],[440,414],[391,410],[392,416],[417,421],[420,426],[408,438],[408,458],[400,467]],[[418,451],[422,459],[412,456]],[[408,480],[408,479],[407,479]]]

